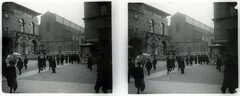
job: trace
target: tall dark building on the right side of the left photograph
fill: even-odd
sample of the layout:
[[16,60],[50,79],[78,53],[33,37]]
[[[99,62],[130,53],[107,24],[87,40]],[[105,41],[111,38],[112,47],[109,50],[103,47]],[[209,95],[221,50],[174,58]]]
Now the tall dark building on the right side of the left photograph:
[[84,2],[85,43],[93,44],[84,54],[96,55],[99,51],[112,58],[111,2]]

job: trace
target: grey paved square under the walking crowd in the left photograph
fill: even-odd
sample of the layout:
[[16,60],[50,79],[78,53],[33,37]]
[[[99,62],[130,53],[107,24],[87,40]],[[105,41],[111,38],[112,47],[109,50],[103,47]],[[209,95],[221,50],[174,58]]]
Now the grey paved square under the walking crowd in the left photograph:
[[[97,78],[96,65],[93,70],[87,64],[57,65],[56,73],[46,69],[38,73],[37,61],[30,60],[28,69],[17,71],[18,89],[13,93],[95,93],[94,85]],[[2,91],[9,93],[6,78],[2,78]],[[100,93],[102,90],[100,89]]]

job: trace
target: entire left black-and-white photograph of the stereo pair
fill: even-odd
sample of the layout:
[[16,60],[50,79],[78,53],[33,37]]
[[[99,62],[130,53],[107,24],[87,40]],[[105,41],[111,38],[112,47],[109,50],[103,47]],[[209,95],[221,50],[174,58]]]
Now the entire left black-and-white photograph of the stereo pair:
[[1,7],[3,93],[112,93],[111,1]]

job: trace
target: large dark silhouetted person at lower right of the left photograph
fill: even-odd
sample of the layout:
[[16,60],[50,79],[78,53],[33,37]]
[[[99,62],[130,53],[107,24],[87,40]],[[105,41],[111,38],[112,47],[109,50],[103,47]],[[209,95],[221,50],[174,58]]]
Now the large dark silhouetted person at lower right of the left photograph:
[[112,88],[112,64],[105,59],[103,52],[98,53],[97,68],[94,90],[99,93],[99,89],[102,87],[102,91],[107,93],[107,89]]

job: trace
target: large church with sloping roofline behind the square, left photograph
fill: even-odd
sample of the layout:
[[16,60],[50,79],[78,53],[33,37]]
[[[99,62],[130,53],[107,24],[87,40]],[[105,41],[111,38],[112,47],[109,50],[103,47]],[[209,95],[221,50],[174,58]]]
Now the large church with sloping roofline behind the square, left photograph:
[[72,54],[80,52],[84,43],[84,28],[52,12],[41,16],[39,32],[47,54]]

